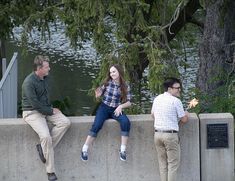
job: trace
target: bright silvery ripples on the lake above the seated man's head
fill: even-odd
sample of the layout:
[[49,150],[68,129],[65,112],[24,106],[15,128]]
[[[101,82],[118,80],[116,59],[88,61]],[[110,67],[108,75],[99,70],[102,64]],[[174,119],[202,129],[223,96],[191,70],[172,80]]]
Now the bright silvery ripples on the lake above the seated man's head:
[[[14,33],[14,43],[19,44],[21,40],[21,33],[23,29],[21,27],[16,27],[13,30]],[[64,25],[60,22],[56,23],[56,28],[54,24],[50,26],[50,39],[46,33],[46,41],[42,39],[41,32],[34,28],[29,36],[28,40],[28,51],[43,52],[46,54],[59,55],[57,61],[73,60],[73,61],[83,61],[86,60],[86,65],[91,65],[96,63],[96,51],[92,47],[92,41],[80,42],[83,49],[73,49],[70,46],[69,39],[65,36]],[[74,63],[74,62],[71,62]]]

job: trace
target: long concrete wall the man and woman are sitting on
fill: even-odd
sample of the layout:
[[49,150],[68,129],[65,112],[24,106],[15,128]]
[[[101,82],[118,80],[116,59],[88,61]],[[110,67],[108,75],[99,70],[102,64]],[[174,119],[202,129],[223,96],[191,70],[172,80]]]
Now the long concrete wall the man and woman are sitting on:
[[[71,117],[72,126],[55,148],[57,176],[61,181],[160,181],[150,115],[129,116],[132,129],[127,162],[119,160],[120,128],[106,121],[90,149],[89,161],[80,150],[94,117]],[[46,181],[45,167],[35,145],[36,133],[22,119],[0,120],[0,180]],[[190,114],[181,128],[181,166],[178,181],[199,181],[199,120]]]

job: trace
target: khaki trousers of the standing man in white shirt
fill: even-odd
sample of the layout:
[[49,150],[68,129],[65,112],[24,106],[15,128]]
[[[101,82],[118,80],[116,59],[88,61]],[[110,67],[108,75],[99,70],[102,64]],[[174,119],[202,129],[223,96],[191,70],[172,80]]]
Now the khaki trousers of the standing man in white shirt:
[[155,132],[154,143],[158,154],[161,181],[175,181],[180,163],[178,133]]

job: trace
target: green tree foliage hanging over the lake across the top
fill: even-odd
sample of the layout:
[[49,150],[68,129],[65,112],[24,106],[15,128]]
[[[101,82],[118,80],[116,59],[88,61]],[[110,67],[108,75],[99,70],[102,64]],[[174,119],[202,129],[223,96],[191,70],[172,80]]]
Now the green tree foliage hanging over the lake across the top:
[[[6,29],[2,37],[9,36],[14,26],[22,25],[24,43],[34,28],[41,31],[42,39],[47,41],[47,35],[50,38],[50,26],[60,21],[65,25],[66,35],[72,46],[77,48],[81,46],[80,42],[92,40],[101,57],[101,70],[93,82],[90,94],[102,83],[107,67],[113,62],[124,66],[125,78],[133,83],[136,90],[140,90],[138,79],[142,77],[138,73],[142,74],[146,68],[143,64],[149,65],[149,88],[152,92],[159,93],[164,77],[179,75],[171,45],[165,37],[164,26],[172,21],[178,5],[181,4],[181,8],[187,2],[188,0],[6,1],[0,3],[3,6],[0,14],[9,13],[9,16],[4,16],[9,18],[4,18]],[[0,19],[0,26],[2,24],[4,25]],[[178,42],[177,37],[175,41]]]

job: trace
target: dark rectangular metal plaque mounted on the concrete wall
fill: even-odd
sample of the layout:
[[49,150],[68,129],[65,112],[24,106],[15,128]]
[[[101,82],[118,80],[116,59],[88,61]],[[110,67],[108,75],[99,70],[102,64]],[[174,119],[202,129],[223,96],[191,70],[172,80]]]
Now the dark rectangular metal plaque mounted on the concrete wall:
[[207,149],[228,148],[228,124],[207,124]]

